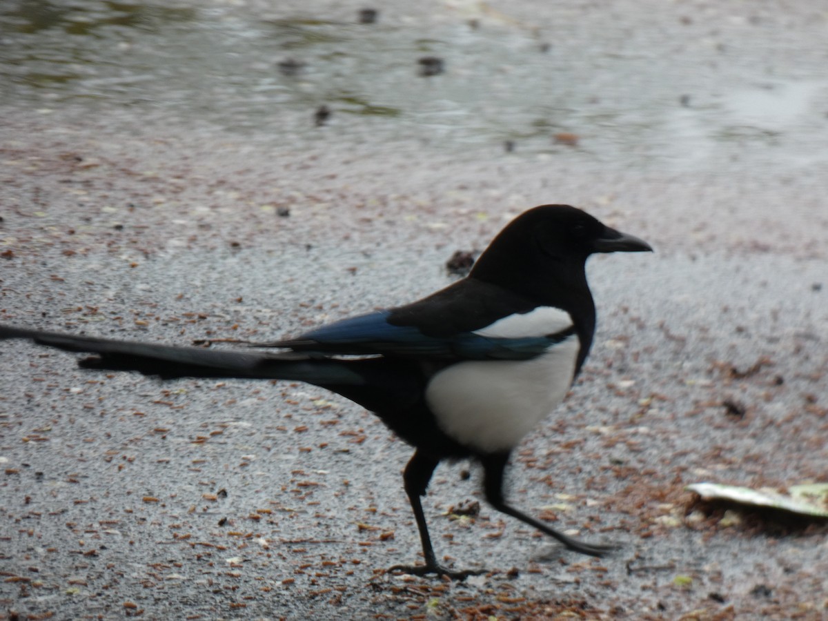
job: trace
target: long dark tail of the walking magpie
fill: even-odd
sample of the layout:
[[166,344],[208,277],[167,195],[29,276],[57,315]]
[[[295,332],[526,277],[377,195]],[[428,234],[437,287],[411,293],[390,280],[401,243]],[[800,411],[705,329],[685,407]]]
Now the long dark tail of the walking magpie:
[[279,354],[253,349],[233,351],[177,347],[0,325],[0,340],[2,339],[29,339],[48,347],[94,354],[79,360],[79,365],[83,368],[137,371],[164,379],[285,379],[325,387],[363,385],[366,381],[363,365],[353,364],[359,362],[357,360],[320,359],[290,352]]

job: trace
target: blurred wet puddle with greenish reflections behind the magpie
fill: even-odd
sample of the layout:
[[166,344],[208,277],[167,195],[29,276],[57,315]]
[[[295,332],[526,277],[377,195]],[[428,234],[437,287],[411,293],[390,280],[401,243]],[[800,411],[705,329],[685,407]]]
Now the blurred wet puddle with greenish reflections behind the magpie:
[[2,108],[67,122],[581,171],[826,158],[821,2],[6,0],[0,18]]

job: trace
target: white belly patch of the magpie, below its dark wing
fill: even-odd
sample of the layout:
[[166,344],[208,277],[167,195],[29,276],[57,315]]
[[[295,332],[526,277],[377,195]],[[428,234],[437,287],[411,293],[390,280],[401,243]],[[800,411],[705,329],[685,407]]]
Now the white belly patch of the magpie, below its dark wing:
[[566,397],[579,349],[572,335],[536,359],[452,365],[431,379],[426,402],[440,429],[461,444],[511,450]]

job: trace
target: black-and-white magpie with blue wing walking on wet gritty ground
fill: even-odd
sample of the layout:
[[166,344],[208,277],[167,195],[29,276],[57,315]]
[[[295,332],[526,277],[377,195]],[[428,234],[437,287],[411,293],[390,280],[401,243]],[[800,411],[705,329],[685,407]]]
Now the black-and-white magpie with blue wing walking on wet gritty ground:
[[282,379],[338,392],[414,448],[402,479],[425,563],[390,570],[462,580],[479,572],[440,565],[420,500],[442,460],[477,460],[493,508],[571,551],[604,556],[616,549],[568,537],[514,508],[504,498],[503,474],[512,450],[563,400],[590,351],[595,303],[586,259],[646,251],[652,248],[642,239],[580,209],[541,205],[513,219],[467,277],[431,296],[260,349],[179,347],[2,325],[0,339],[95,354],[79,361],[82,368],[165,379]]

